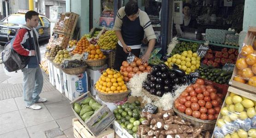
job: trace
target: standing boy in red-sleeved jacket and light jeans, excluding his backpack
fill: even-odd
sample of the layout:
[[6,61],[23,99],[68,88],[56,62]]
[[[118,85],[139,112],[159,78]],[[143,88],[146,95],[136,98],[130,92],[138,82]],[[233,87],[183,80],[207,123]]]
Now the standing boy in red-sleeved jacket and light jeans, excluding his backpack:
[[23,72],[23,97],[26,108],[35,110],[41,109],[41,106],[35,103],[47,101],[39,96],[43,87],[43,75],[39,66],[41,53],[38,33],[35,29],[39,22],[38,15],[39,13],[36,11],[28,11],[25,14],[26,25],[17,31],[14,40],[11,41],[14,51],[22,56],[29,56],[28,64],[21,69]]

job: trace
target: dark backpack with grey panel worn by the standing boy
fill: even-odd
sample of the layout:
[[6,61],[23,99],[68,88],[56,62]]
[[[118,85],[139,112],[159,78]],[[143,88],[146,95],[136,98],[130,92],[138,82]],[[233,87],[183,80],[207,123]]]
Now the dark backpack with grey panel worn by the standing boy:
[[[29,29],[27,29],[29,32]],[[18,31],[17,31],[18,32]],[[31,43],[31,35],[29,34],[29,43]],[[17,35],[17,34],[16,34]],[[15,37],[16,37],[15,35]],[[12,40],[15,40],[15,37],[12,38]],[[2,52],[2,60],[5,64],[5,68],[7,71],[17,71],[19,69],[23,69],[27,66],[29,63],[29,56],[23,56],[18,54],[12,47],[11,41],[8,41],[5,45],[4,51]],[[29,45],[30,46],[30,45]],[[31,46],[30,46],[31,49]]]

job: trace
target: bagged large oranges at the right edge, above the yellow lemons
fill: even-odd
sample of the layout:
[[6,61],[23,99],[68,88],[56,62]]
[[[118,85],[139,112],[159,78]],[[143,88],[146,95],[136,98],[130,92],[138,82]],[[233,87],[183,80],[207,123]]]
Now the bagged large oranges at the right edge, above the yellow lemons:
[[244,45],[236,61],[234,81],[247,83],[256,87],[256,50],[253,46]]

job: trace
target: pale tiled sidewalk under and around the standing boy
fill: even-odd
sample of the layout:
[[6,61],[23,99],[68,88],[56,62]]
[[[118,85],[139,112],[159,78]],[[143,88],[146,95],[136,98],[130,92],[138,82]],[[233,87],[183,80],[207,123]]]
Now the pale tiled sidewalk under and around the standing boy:
[[[21,71],[7,72],[0,64],[0,138],[47,138],[45,131],[59,128],[64,134],[55,138],[74,138],[70,101],[44,76],[40,110],[26,109],[22,97]],[[51,137],[52,138],[52,137]]]

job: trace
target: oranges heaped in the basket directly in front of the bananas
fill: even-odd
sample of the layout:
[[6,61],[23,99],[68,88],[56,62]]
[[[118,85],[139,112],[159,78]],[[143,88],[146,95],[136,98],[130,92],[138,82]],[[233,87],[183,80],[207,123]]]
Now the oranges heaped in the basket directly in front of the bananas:
[[88,58],[87,58],[88,60],[98,60],[98,59],[106,58],[106,56],[100,50],[99,45],[90,44],[90,46],[87,47],[85,52],[89,53]]

